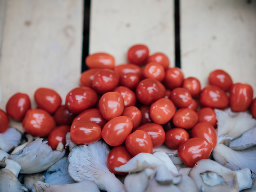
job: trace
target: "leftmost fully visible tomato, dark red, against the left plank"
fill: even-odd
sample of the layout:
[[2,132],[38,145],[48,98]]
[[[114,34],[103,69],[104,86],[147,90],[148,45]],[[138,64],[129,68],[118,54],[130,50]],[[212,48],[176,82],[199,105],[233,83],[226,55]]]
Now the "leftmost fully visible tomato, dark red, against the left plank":
[[26,112],[31,108],[29,96],[23,93],[16,93],[6,104],[6,113],[15,120],[23,120]]

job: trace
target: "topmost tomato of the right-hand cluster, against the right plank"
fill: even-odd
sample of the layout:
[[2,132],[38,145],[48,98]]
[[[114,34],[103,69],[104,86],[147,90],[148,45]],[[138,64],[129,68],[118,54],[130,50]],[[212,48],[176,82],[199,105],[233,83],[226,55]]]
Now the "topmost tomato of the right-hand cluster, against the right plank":
[[218,88],[223,89],[224,91],[228,91],[233,81],[228,73],[224,72],[223,70],[215,70],[210,73],[208,77],[208,81],[210,85],[214,85]]

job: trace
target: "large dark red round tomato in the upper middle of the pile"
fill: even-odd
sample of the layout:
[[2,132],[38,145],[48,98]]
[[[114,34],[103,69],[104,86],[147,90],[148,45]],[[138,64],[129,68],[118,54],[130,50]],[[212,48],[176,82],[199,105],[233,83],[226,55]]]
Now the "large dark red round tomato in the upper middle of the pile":
[[165,94],[164,86],[154,79],[142,80],[136,88],[136,97],[139,102],[149,105]]

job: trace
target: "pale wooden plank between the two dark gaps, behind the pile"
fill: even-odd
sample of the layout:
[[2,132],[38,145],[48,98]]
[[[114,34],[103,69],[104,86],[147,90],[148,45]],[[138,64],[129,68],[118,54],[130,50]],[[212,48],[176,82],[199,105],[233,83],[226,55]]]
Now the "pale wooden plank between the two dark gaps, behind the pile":
[[134,44],[165,53],[174,66],[174,1],[92,0],[89,53],[106,52],[124,64]]

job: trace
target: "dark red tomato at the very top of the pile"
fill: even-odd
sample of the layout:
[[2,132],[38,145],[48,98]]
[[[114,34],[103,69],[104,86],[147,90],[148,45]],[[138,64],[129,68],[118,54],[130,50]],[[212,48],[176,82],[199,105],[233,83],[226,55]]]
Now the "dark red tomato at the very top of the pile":
[[127,52],[127,59],[132,64],[142,65],[147,61],[149,50],[145,45],[134,45]]

